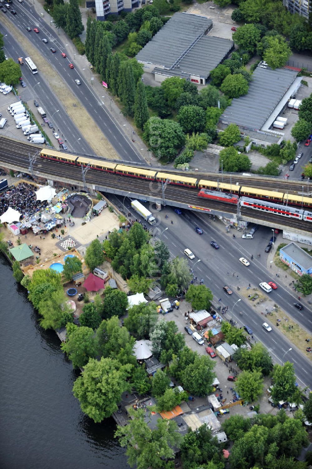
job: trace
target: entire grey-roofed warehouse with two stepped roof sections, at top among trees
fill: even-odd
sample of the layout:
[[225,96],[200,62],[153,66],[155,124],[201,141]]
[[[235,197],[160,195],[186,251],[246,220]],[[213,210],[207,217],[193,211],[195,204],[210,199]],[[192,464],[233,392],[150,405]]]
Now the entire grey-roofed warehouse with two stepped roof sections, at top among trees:
[[204,16],[175,13],[136,59],[158,82],[178,76],[206,84],[211,70],[234,49],[229,39],[206,36],[212,27],[212,20]]

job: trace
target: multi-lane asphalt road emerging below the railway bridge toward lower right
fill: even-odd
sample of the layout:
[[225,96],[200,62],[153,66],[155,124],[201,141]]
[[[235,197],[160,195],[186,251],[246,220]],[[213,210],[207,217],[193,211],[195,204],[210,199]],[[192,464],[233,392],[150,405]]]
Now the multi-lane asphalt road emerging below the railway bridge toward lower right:
[[[108,197],[111,197],[114,202],[117,200],[117,204],[123,204],[123,197],[119,199],[115,196]],[[127,199],[125,205],[127,212],[129,210],[132,217],[137,218],[137,213],[128,208],[129,202],[127,202]],[[168,219],[165,219],[166,213]],[[204,230],[202,235],[195,232],[194,228],[196,226]],[[159,236],[162,233],[160,239],[167,244],[172,257],[185,257],[184,249],[189,248],[192,250],[195,259],[189,261],[189,263],[190,267],[194,266],[194,275],[197,276],[198,280],[204,279],[205,285],[213,292],[217,304],[228,306],[228,318],[233,318],[239,326],[248,325],[251,327],[253,336],[268,348],[274,362],[281,364],[285,352],[292,347],[292,344],[279,332],[279,328],[270,321],[270,316],[266,318],[255,312],[253,305],[245,300],[243,295],[240,295],[249,283],[251,283],[251,287],[259,287],[261,281],[274,281],[278,288],[275,291],[273,290],[268,297],[274,303],[277,303],[302,328],[306,329],[307,337],[310,336],[312,331],[312,310],[304,304],[304,310],[298,311],[293,306],[293,303],[297,301],[297,296],[290,293],[283,285],[280,285],[278,278],[270,277],[270,272],[267,270],[267,254],[264,252],[264,248],[272,236],[270,228],[260,227],[253,240],[243,240],[241,233],[235,231],[236,238],[234,239],[231,236],[232,230],[230,234],[225,234],[220,230],[219,223],[213,222],[213,219],[208,218],[208,216],[198,216],[194,212],[183,212],[183,215],[178,216],[171,207],[165,207],[160,212],[158,228],[159,233],[156,235]],[[168,229],[164,232],[165,228]],[[155,233],[155,227],[153,227],[153,232]],[[279,236],[281,237],[281,235]],[[212,240],[219,244],[220,248],[218,250],[210,246]],[[280,241],[282,241],[282,238],[277,240],[277,242]],[[260,258],[257,256],[258,253],[260,253]],[[254,256],[252,261],[251,254]],[[249,267],[242,265],[238,260],[240,257],[246,257],[251,265]],[[197,262],[198,259],[200,259],[200,262]],[[227,272],[230,272],[229,275]],[[235,273],[234,277],[233,273]],[[223,291],[225,285],[232,288],[232,295],[227,295]],[[237,286],[241,287],[240,291],[237,290]],[[261,293],[266,295],[265,292],[261,291]],[[220,298],[221,303],[218,302]],[[241,301],[236,303],[239,299]],[[242,315],[240,315],[241,311]],[[272,332],[265,331],[262,327],[263,322],[268,322],[272,326]],[[294,363],[299,385],[302,387],[308,386],[312,389],[312,363],[294,347],[285,354],[284,361],[287,360]]]

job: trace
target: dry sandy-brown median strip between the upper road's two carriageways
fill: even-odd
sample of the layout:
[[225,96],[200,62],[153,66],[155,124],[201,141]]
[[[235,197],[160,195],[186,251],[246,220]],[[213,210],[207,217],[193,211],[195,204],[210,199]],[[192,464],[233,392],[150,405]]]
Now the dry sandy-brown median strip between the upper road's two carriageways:
[[30,57],[36,63],[40,73],[45,75],[45,80],[54,91],[55,95],[61,100],[64,109],[68,113],[70,119],[75,123],[77,129],[84,129],[84,137],[93,148],[95,154],[110,159],[119,159],[118,154],[113,146],[105,138],[96,122],[91,115],[87,113],[80,101],[75,97],[67,84],[57,73],[57,71],[44,59],[32,43],[15,28],[14,24],[4,15],[1,16],[1,22],[8,30],[14,34],[17,41],[23,44],[24,48],[29,52]]

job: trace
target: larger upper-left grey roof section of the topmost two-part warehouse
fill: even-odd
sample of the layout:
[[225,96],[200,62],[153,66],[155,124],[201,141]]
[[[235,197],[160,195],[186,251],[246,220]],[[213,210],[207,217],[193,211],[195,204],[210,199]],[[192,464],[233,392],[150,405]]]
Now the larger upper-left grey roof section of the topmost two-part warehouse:
[[171,68],[211,25],[212,20],[204,16],[175,13],[137,54],[136,59]]

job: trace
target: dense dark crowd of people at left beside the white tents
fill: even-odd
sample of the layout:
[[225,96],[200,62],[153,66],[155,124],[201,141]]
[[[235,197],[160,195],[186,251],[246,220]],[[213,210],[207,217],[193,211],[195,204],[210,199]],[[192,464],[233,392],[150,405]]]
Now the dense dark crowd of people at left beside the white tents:
[[36,200],[34,189],[31,184],[21,182],[16,187],[5,192],[0,197],[0,214],[2,215],[6,212],[9,207],[18,210],[22,214],[21,219],[37,212],[41,202]]

